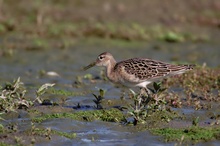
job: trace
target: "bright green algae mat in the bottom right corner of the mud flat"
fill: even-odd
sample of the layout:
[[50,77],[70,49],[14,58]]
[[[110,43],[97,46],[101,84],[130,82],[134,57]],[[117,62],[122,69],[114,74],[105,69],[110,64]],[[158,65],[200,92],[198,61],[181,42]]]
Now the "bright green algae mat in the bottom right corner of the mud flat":
[[185,142],[199,142],[220,139],[220,127],[189,127],[152,129],[156,135],[162,135],[166,142],[183,140]]

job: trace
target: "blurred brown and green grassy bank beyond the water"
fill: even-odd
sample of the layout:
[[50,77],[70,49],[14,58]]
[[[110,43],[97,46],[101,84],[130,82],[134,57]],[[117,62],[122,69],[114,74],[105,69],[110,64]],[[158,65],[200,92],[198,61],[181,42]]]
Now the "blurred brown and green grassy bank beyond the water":
[[219,35],[219,13],[218,0],[1,0],[0,33],[129,41],[171,33],[180,37],[173,41],[206,40]]

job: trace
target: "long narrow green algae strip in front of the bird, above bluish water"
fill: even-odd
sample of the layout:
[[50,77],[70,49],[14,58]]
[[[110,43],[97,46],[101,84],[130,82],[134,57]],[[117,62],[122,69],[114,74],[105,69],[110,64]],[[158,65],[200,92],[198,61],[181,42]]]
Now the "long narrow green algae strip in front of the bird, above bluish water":
[[82,121],[94,121],[102,120],[106,122],[120,122],[124,120],[124,116],[121,111],[118,109],[103,109],[103,110],[94,110],[94,111],[77,111],[73,113],[53,113],[45,114],[40,117],[35,117],[32,119],[33,122],[41,123],[48,119],[55,118],[70,118],[75,120]]

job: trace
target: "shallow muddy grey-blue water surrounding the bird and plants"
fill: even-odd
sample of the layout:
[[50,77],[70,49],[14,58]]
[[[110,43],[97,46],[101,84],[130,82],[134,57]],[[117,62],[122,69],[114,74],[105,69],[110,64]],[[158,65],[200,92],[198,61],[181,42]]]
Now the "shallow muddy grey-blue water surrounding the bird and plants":
[[[74,88],[72,85],[76,76],[91,73],[94,76],[100,75],[100,68],[93,68],[86,72],[80,71],[81,67],[87,65],[97,55],[104,52],[111,52],[116,60],[120,61],[131,57],[147,57],[167,62],[190,62],[216,67],[220,65],[220,44],[191,44],[177,43],[167,44],[153,42],[138,46],[127,45],[123,47],[110,47],[107,44],[100,45],[77,45],[67,49],[50,48],[45,50],[15,50],[12,57],[0,58],[0,82],[12,81],[17,77],[25,83],[25,86],[32,89],[44,83],[56,83],[56,88],[69,91],[91,90],[98,93],[98,88],[107,90],[106,99],[117,99],[121,96],[121,89],[115,88],[109,82],[97,82],[89,84],[85,88]],[[56,72],[59,76],[41,75],[40,72]],[[34,93],[34,92],[33,92]],[[34,99],[33,93],[28,96]],[[56,97],[53,97],[54,100]],[[52,99],[53,99],[52,98]],[[93,96],[91,94],[80,96],[68,96],[62,104],[64,107],[76,106],[77,103],[93,106]],[[189,113],[187,110],[182,112]],[[8,117],[7,122],[17,122],[25,128],[30,127],[28,116],[23,114],[20,118]],[[46,120],[39,124],[41,127],[76,133],[76,138],[54,137],[50,141],[42,141],[36,145],[174,145],[174,143],[164,143],[161,137],[153,136],[148,131],[137,132],[131,128],[118,123],[108,123],[101,121],[80,122],[70,119]],[[218,145],[219,141],[200,143],[198,145]]]

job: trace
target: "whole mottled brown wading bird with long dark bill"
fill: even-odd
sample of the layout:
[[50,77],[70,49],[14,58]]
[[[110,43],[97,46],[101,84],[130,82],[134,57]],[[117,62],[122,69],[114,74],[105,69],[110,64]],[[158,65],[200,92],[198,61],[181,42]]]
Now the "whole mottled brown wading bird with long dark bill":
[[132,58],[117,63],[108,52],[100,54],[95,62],[84,69],[94,65],[106,67],[106,75],[114,83],[144,88],[153,81],[182,74],[194,67],[194,65],[174,65],[146,58]]

